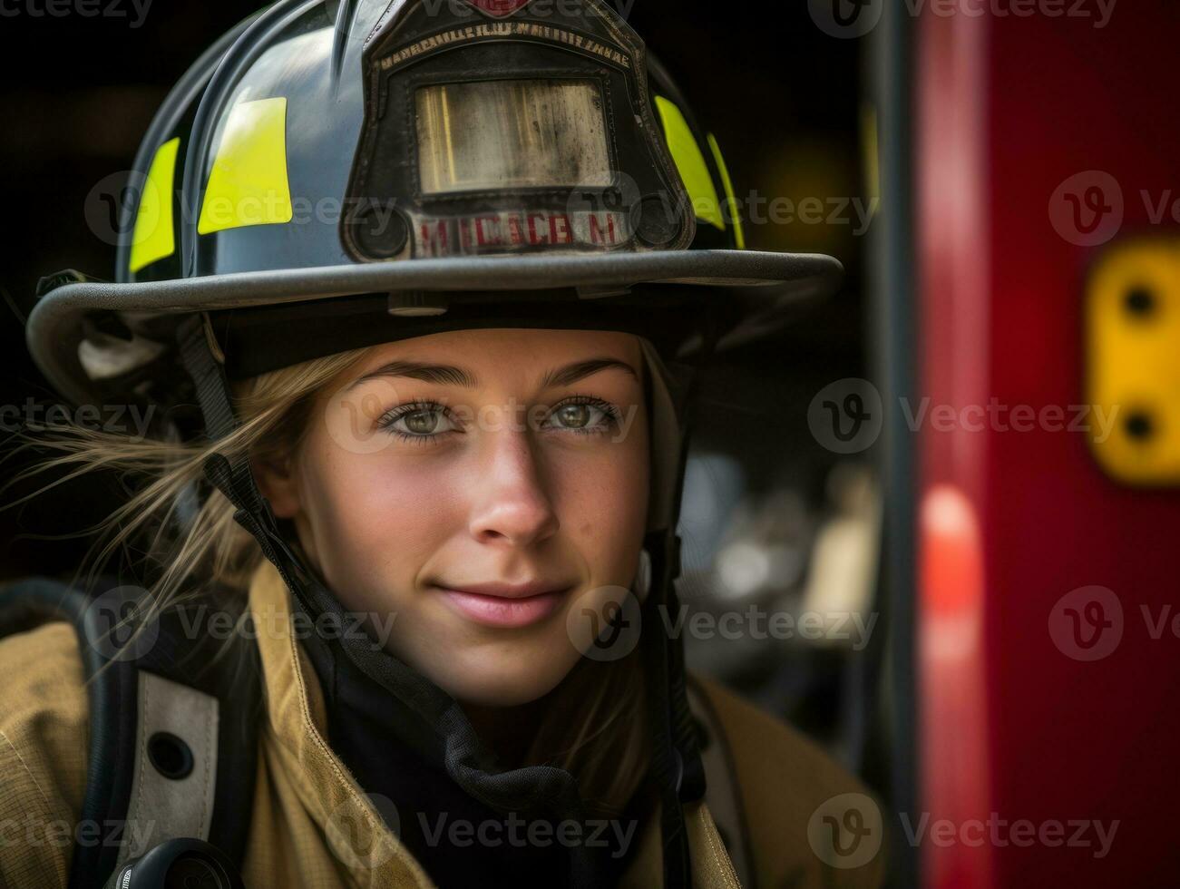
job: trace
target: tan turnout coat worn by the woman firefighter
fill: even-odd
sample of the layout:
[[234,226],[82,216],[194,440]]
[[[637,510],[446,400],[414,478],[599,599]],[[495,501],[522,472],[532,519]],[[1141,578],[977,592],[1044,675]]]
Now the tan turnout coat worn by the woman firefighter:
[[[289,615],[289,593],[263,564],[250,587],[256,613]],[[280,622],[280,626],[289,622]],[[268,626],[275,626],[271,621]],[[431,887],[422,868],[381,821],[328,745],[315,671],[291,633],[258,633],[266,721],[243,878],[249,889]],[[0,641],[0,887],[65,887],[73,825],[86,783],[87,700],[73,628],[64,621]],[[756,885],[878,887],[884,849],[859,868],[820,859],[808,842],[817,809],[841,793],[864,793],[852,778],[794,730],[695,678],[725,726],[725,744],[745,810]],[[712,773],[710,773],[712,774]],[[713,778],[710,777],[710,780]],[[358,813],[366,859],[337,855],[334,812]],[[686,809],[695,884],[739,885],[708,805]],[[658,816],[658,811],[656,812]],[[658,817],[641,825],[622,885],[661,883]]]

